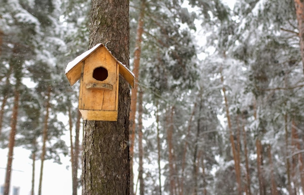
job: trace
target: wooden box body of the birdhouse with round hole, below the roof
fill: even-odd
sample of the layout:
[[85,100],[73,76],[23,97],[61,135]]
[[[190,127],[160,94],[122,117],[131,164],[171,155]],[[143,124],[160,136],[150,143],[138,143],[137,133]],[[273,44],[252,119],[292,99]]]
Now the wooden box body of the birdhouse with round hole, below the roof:
[[117,120],[118,76],[117,61],[104,48],[85,59],[79,94],[79,110],[84,118],[92,120],[96,115],[98,120]]

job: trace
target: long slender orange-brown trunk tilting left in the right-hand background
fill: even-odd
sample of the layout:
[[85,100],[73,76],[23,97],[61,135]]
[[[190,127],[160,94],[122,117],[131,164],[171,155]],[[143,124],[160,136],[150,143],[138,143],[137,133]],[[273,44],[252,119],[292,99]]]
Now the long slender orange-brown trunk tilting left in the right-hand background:
[[227,117],[227,121],[228,121],[228,128],[229,128],[229,134],[230,134],[229,137],[230,137],[230,143],[231,143],[231,147],[232,147],[233,159],[235,162],[237,192],[238,192],[238,195],[241,195],[242,194],[242,182],[241,182],[240,164],[239,164],[239,157],[238,157],[239,155],[237,153],[235,142],[234,142],[231,118],[230,118],[230,114],[229,114],[228,99],[226,96],[226,88],[224,86],[224,77],[222,75],[221,70],[220,70],[220,80],[223,84],[222,91],[223,91],[223,96],[224,96],[224,101],[225,101],[226,117]]

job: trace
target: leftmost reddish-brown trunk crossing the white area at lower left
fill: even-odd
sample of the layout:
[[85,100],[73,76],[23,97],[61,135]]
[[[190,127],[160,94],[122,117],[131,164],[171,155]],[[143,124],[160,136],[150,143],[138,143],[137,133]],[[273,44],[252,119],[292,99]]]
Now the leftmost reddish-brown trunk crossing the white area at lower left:
[[9,195],[11,174],[12,174],[12,163],[14,155],[14,146],[15,146],[15,135],[16,135],[16,126],[17,126],[17,115],[18,115],[18,106],[19,106],[19,85],[20,77],[17,75],[16,84],[15,84],[15,98],[14,98],[14,107],[13,114],[11,118],[11,132],[8,144],[8,155],[7,155],[7,165],[6,165],[6,174],[5,174],[5,183],[4,183],[4,193],[3,195]]

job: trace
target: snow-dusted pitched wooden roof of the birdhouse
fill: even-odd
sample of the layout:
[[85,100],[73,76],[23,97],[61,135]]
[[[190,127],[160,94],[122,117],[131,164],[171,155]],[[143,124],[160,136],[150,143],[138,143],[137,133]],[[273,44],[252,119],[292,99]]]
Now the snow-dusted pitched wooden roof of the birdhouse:
[[116,57],[112,55],[112,52],[107,49],[103,44],[99,43],[93,48],[85,51],[81,55],[77,56],[73,61],[69,62],[66,68],[66,76],[70,85],[73,85],[81,77],[82,62],[88,58],[97,49],[104,48],[115,59],[119,65],[119,73],[134,87],[134,74],[127,68],[126,65],[119,62]]

